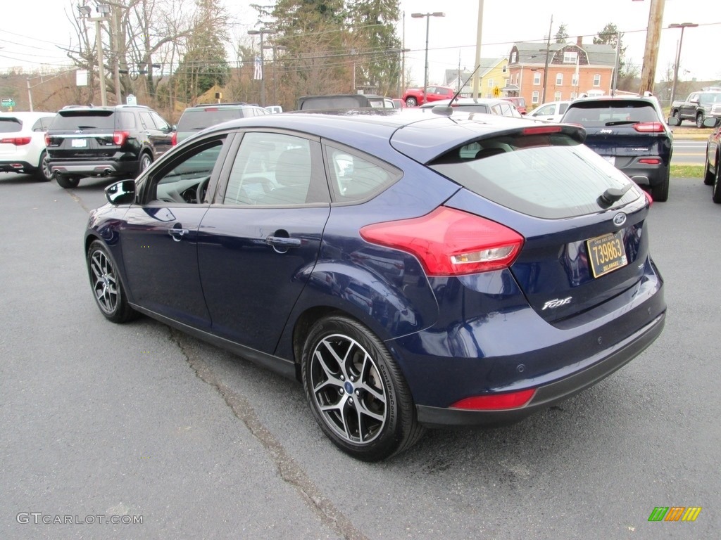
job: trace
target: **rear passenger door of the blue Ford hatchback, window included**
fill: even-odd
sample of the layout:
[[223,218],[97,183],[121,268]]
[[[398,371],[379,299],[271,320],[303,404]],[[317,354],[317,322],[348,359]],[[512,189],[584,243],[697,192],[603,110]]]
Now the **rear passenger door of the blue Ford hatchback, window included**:
[[329,200],[317,140],[243,135],[200,224],[198,264],[213,333],[275,351],[317,261]]

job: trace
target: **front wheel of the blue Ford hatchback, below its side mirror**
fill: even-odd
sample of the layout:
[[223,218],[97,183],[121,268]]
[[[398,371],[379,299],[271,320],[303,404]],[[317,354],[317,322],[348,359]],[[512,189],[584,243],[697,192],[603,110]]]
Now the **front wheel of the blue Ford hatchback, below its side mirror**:
[[93,296],[102,315],[112,323],[126,323],[136,318],[138,312],[128,305],[118,269],[100,240],[90,244],[87,267]]

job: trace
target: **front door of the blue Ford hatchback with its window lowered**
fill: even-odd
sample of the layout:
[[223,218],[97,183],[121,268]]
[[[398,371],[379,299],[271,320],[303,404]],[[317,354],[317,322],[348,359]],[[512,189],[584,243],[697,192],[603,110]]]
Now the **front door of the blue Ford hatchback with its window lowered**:
[[210,204],[226,135],[203,138],[138,180],[138,204],[120,225],[125,275],[133,302],[196,328],[211,325],[198,272],[198,226]]

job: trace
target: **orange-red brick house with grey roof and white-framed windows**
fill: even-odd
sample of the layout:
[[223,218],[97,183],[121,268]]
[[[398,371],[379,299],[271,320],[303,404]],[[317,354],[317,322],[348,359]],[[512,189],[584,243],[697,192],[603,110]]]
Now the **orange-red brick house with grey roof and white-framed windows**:
[[544,99],[546,47],[539,42],[517,42],[508,55],[508,81],[505,96],[523,96],[531,107],[543,102],[559,102],[586,94],[611,94],[616,65],[616,49],[611,45],[551,43]]

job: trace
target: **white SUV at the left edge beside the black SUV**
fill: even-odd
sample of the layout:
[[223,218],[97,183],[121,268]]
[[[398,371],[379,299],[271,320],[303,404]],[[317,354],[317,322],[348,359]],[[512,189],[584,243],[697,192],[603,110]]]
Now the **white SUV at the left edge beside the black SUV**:
[[54,112],[0,112],[0,171],[50,181],[45,132]]

